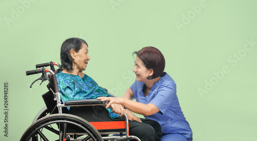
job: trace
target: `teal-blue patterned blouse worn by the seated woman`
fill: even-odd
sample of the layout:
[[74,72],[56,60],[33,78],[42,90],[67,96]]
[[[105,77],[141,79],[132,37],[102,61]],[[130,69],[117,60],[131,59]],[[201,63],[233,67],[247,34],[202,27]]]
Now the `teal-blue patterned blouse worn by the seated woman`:
[[[111,96],[86,74],[81,78],[78,75],[60,71],[56,74],[56,77],[63,103],[67,100],[96,99],[101,96]],[[112,109],[107,108],[107,110],[111,118],[120,116],[114,113]]]

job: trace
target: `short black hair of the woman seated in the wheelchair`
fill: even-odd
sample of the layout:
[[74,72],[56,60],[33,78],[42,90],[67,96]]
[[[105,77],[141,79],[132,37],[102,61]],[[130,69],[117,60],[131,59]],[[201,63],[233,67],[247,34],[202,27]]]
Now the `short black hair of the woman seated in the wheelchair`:
[[86,44],[88,47],[84,39],[81,38],[68,38],[63,42],[60,53],[62,69],[66,69],[68,72],[73,70],[72,65],[74,61],[70,56],[70,50],[74,49],[78,52],[83,47],[82,44]]

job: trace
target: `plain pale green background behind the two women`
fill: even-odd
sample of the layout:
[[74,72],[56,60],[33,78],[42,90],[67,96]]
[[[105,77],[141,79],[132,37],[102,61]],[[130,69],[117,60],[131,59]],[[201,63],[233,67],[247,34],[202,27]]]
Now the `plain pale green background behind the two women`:
[[61,44],[69,37],[85,39],[91,59],[84,72],[117,96],[135,80],[132,53],[158,48],[194,140],[257,140],[256,6],[257,1],[1,0],[0,140],[19,140],[44,107],[47,83],[30,89],[40,75],[25,71],[60,63]]

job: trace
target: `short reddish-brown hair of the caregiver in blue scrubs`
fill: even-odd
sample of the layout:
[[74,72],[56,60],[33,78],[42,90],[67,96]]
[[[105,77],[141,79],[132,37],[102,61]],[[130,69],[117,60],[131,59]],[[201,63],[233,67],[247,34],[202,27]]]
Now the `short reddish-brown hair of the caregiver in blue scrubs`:
[[159,77],[165,68],[165,58],[162,53],[155,47],[144,47],[139,51],[133,53],[142,60],[146,69],[153,69],[154,74],[149,76],[148,79]]

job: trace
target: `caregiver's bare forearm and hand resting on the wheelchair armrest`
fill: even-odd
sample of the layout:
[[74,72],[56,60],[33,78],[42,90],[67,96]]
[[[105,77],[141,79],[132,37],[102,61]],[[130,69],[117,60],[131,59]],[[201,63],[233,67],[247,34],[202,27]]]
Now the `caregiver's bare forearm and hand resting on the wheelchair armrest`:
[[134,102],[124,97],[98,97],[97,99],[101,99],[102,102],[108,101],[109,103],[106,106],[106,108],[113,103],[121,104],[124,107],[126,107],[128,110],[135,112],[137,114],[142,114],[144,116],[153,115],[159,112],[159,109],[151,103],[146,105],[146,104]]

